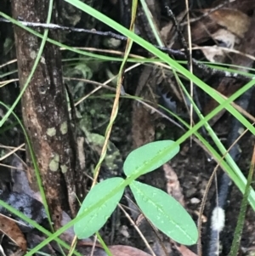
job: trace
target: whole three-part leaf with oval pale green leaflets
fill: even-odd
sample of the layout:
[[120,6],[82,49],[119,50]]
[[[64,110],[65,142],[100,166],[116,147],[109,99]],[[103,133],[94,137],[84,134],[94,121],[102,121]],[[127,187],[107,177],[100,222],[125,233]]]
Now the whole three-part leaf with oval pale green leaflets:
[[[136,173],[139,173],[139,175],[150,173],[178,153],[179,146],[174,145],[172,140],[161,140],[132,151],[124,162],[124,173],[127,176]],[[167,151],[167,153],[163,154],[163,157],[156,157],[161,156],[164,151]],[[139,172],[138,170],[143,166],[145,168]],[[122,178],[106,179],[89,191],[77,214],[77,217],[79,217],[85,213],[85,217],[74,225],[74,230],[79,238],[91,236],[105,225],[120,201],[124,188],[117,191],[113,196],[111,196],[111,192],[114,187],[121,186],[123,181]],[[130,183],[130,188],[139,208],[142,209],[144,215],[150,219],[156,228],[182,244],[191,245],[197,241],[198,232],[194,221],[172,196],[135,180]],[[104,202],[101,202],[102,199],[105,199]],[[94,206],[94,210],[86,214],[92,206]]]

